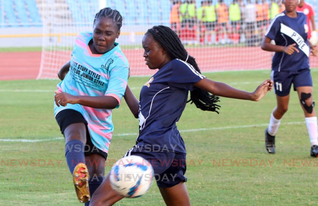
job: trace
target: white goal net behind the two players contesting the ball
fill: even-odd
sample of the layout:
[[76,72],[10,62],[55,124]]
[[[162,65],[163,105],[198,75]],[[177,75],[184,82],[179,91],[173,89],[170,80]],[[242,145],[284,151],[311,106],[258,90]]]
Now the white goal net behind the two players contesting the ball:
[[[101,5],[118,10],[123,17],[117,42],[128,59],[132,76],[156,72],[144,64],[142,37],[159,24],[176,31],[202,72],[271,68],[273,53],[259,46],[274,12],[272,3],[266,0],[259,4],[190,0],[186,6],[177,5],[176,0],[39,1],[43,48],[38,79],[57,78],[59,68],[71,58],[75,36],[81,31],[93,31],[93,20]],[[277,12],[283,10],[280,3],[277,6]],[[311,64],[317,67],[317,60]]]

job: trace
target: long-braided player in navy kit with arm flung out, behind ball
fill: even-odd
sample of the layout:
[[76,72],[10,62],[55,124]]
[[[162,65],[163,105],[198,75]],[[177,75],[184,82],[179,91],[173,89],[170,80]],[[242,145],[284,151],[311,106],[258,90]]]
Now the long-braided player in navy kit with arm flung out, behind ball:
[[[188,91],[191,91],[190,101],[198,108],[217,112],[218,97],[214,95],[258,101],[272,90],[273,81],[266,80],[248,93],[205,78],[176,33],[166,26],[149,29],[142,46],[146,65],[159,71],[142,87],[140,101],[128,87],[126,89],[124,97],[134,116],[139,116],[140,133],[136,145],[125,156],[138,155],[149,160],[167,205],[190,205],[184,184],[187,181],[184,176],[186,150],[176,127],[187,103]],[[107,176],[90,205],[113,205],[122,198],[111,188]]]

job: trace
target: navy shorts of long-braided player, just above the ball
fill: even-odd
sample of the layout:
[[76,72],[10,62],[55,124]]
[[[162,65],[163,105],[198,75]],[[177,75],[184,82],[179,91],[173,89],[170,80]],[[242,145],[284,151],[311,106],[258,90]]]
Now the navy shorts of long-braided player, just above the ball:
[[185,154],[153,152],[150,149],[135,145],[126,152],[124,157],[130,155],[140,156],[149,161],[154,169],[158,187],[169,188],[180,182],[187,182],[187,178],[184,176],[187,169]]

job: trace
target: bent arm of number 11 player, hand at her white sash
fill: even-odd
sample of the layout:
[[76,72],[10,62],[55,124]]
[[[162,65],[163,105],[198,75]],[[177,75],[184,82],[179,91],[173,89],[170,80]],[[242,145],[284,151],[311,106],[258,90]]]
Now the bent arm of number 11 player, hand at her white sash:
[[262,48],[262,50],[274,51],[274,52],[285,52],[288,55],[291,55],[295,51],[299,53],[299,50],[296,48],[296,44],[291,44],[288,46],[279,46],[279,45],[271,44],[271,41],[272,39],[265,36],[260,44],[260,47]]

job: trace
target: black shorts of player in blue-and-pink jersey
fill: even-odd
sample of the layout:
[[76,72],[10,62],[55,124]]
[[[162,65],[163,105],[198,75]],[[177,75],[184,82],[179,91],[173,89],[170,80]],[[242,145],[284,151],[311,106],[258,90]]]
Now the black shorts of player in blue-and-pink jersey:
[[57,113],[55,119],[59,124],[62,134],[64,134],[64,130],[69,125],[74,123],[84,123],[86,126],[86,145],[84,148],[84,155],[87,156],[89,154],[100,154],[105,158],[105,160],[107,159],[107,153],[93,145],[91,136],[89,135],[87,122],[81,113],[73,109],[64,109]]

